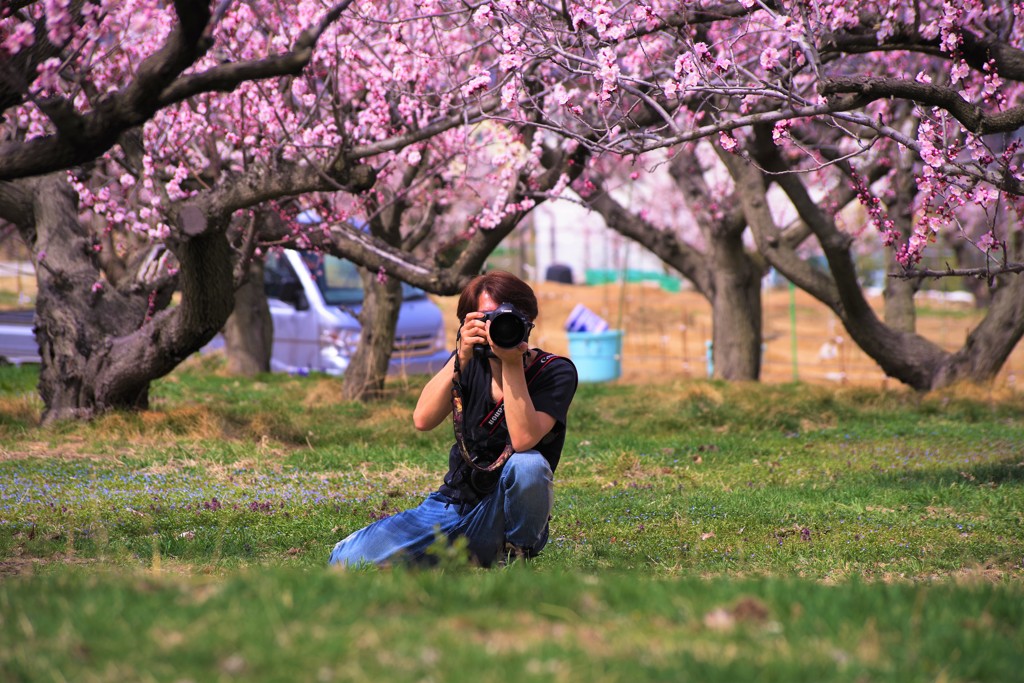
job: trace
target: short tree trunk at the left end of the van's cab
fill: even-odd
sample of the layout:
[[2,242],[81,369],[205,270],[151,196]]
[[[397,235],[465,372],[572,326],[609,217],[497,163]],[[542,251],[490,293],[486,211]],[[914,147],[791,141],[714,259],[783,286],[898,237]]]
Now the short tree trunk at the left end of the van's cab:
[[227,372],[252,377],[270,372],[273,319],[263,292],[263,260],[253,259],[246,282],[234,292],[234,310],[224,325]]

